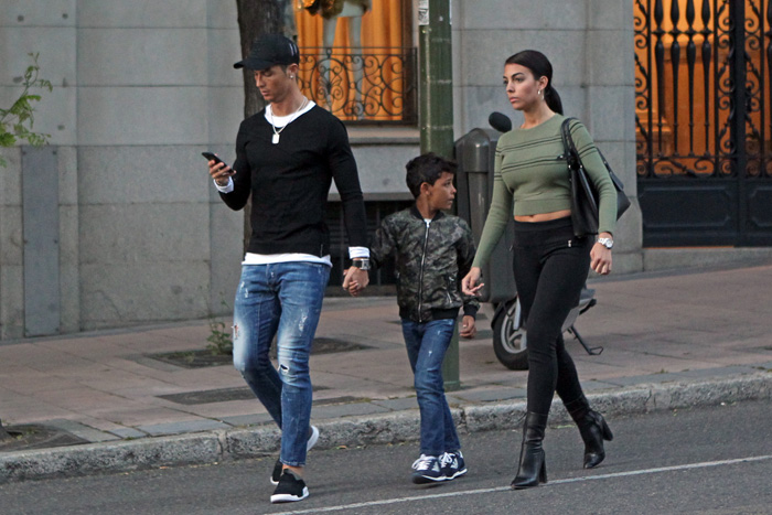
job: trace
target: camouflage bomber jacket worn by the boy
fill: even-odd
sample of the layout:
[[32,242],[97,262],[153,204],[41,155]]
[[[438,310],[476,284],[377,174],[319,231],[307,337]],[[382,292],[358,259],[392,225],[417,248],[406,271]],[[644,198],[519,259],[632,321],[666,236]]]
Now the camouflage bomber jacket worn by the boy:
[[474,259],[467,222],[438,212],[426,223],[414,205],[384,218],[369,248],[374,268],[396,258],[399,316],[414,322],[452,319],[463,305],[474,316],[480,302],[461,293],[461,279]]

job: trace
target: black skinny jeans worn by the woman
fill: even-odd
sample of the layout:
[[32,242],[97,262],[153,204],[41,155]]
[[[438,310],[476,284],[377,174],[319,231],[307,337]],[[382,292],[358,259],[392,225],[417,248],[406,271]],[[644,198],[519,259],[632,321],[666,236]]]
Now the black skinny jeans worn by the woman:
[[528,411],[547,415],[557,391],[566,403],[582,395],[562,323],[579,303],[593,238],[573,236],[571,218],[515,221],[513,269],[528,335]]

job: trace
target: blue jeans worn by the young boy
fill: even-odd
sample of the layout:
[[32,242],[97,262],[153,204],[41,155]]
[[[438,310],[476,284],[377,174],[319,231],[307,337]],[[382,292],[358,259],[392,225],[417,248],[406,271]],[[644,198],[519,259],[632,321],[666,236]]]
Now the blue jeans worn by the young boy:
[[461,449],[442,383],[442,360],[454,330],[455,319],[425,323],[403,319],[403,335],[421,412],[421,454],[426,455]]

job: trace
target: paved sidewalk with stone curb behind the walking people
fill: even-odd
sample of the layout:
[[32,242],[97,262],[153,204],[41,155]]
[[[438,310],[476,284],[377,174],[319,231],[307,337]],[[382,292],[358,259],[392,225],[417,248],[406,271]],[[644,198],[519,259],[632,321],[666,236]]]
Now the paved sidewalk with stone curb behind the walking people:
[[[596,279],[568,348],[607,415],[770,398],[772,266]],[[490,321],[461,342],[461,432],[515,427],[527,373],[504,368]],[[153,357],[202,350],[207,321],[0,343],[0,417],[82,444],[0,452],[0,482],[276,452],[278,431],[230,366]],[[311,358],[320,448],[416,440],[418,410],[394,298],[329,298]],[[565,419],[555,403],[553,421]],[[770,415],[772,422],[772,411]]]

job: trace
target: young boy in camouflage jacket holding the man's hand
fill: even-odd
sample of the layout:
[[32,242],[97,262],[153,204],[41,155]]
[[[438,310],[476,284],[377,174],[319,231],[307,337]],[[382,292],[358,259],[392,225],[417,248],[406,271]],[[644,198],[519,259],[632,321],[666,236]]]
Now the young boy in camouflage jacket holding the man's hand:
[[[480,302],[461,294],[461,278],[474,258],[469,225],[442,210],[453,205],[455,164],[433,153],[407,163],[407,185],[416,204],[384,218],[375,233],[373,268],[394,254],[397,302],[421,414],[421,455],[412,464],[417,484],[450,481],[467,473],[461,444],[444,397],[442,360],[463,305],[461,336],[476,334]],[[360,286],[352,281],[356,296]]]

